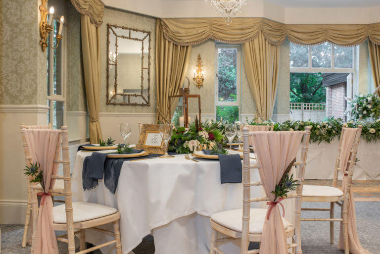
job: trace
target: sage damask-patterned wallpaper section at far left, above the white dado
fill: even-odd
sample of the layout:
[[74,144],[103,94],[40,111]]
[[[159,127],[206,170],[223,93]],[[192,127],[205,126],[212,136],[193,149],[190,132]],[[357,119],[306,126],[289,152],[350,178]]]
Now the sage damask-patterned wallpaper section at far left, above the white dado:
[[0,2],[0,104],[46,104],[38,5],[38,0]]

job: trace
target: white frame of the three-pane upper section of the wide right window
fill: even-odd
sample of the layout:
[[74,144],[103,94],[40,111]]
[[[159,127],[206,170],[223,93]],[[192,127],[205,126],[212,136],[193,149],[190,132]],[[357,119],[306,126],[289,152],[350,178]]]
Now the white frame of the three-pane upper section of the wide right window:
[[[291,44],[291,42],[290,42]],[[289,45],[290,45],[289,44]],[[295,44],[296,45],[296,44]],[[331,66],[330,68],[323,68],[323,67],[312,67],[312,47],[314,46],[304,46],[308,47],[308,67],[291,67],[290,66],[290,52],[289,52],[289,70],[290,72],[322,72],[322,73],[353,73],[354,76],[356,76],[356,71],[355,71],[355,65],[356,65],[356,51],[358,51],[359,46],[353,46],[353,51],[352,51],[352,67],[351,68],[342,68],[342,67],[335,67],[335,59],[334,59],[334,44],[331,44]],[[299,45],[296,45],[299,46]]]

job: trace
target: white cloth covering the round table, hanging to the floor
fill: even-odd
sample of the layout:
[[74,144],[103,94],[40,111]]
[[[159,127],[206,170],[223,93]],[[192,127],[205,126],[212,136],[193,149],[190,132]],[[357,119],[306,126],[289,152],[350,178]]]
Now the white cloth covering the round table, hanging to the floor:
[[[123,163],[118,187],[112,195],[99,180],[90,191],[82,187],[82,165],[92,152],[78,152],[72,175],[75,201],[100,203],[120,211],[123,254],[130,253],[142,238],[153,234],[156,254],[208,254],[211,228],[209,216],[242,207],[242,185],[221,184],[218,160],[193,162],[184,155]],[[254,163],[251,160],[251,163]],[[256,169],[251,180],[259,181]],[[261,186],[252,187],[251,197],[264,196]],[[294,200],[285,200],[285,217],[293,221]],[[252,207],[266,207],[252,203]],[[87,230],[86,241],[100,244],[111,238]],[[225,244],[226,252],[239,251],[240,242]],[[103,254],[114,253],[103,248]]]

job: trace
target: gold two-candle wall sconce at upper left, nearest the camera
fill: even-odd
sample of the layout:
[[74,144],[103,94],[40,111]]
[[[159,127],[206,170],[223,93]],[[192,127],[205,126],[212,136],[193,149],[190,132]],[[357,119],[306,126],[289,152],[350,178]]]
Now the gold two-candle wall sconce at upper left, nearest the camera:
[[[41,0],[40,5],[40,12],[41,12],[41,20],[40,20],[40,45],[42,48],[42,51],[45,52],[46,48],[50,46],[52,49],[58,48],[59,41],[62,40],[62,28],[63,28],[63,22],[64,17],[61,16],[59,20],[59,30],[58,33],[55,35],[55,39],[57,41],[57,44],[53,46],[50,45],[49,35],[50,32],[53,30],[52,22],[53,22],[53,13],[54,13],[54,7],[51,6],[49,11],[47,11],[46,7],[47,0]],[[47,23],[47,17],[49,17],[49,22]]]

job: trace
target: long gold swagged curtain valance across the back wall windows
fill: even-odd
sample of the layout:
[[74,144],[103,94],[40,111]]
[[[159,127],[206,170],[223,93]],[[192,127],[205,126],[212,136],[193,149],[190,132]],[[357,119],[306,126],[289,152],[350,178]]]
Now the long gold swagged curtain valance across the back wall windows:
[[339,46],[354,46],[368,38],[380,45],[380,23],[374,24],[283,24],[266,18],[234,18],[227,25],[223,18],[164,18],[161,20],[165,39],[182,46],[200,44],[208,39],[241,44],[259,36],[273,45],[286,37],[295,44],[318,45],[330,42]]

